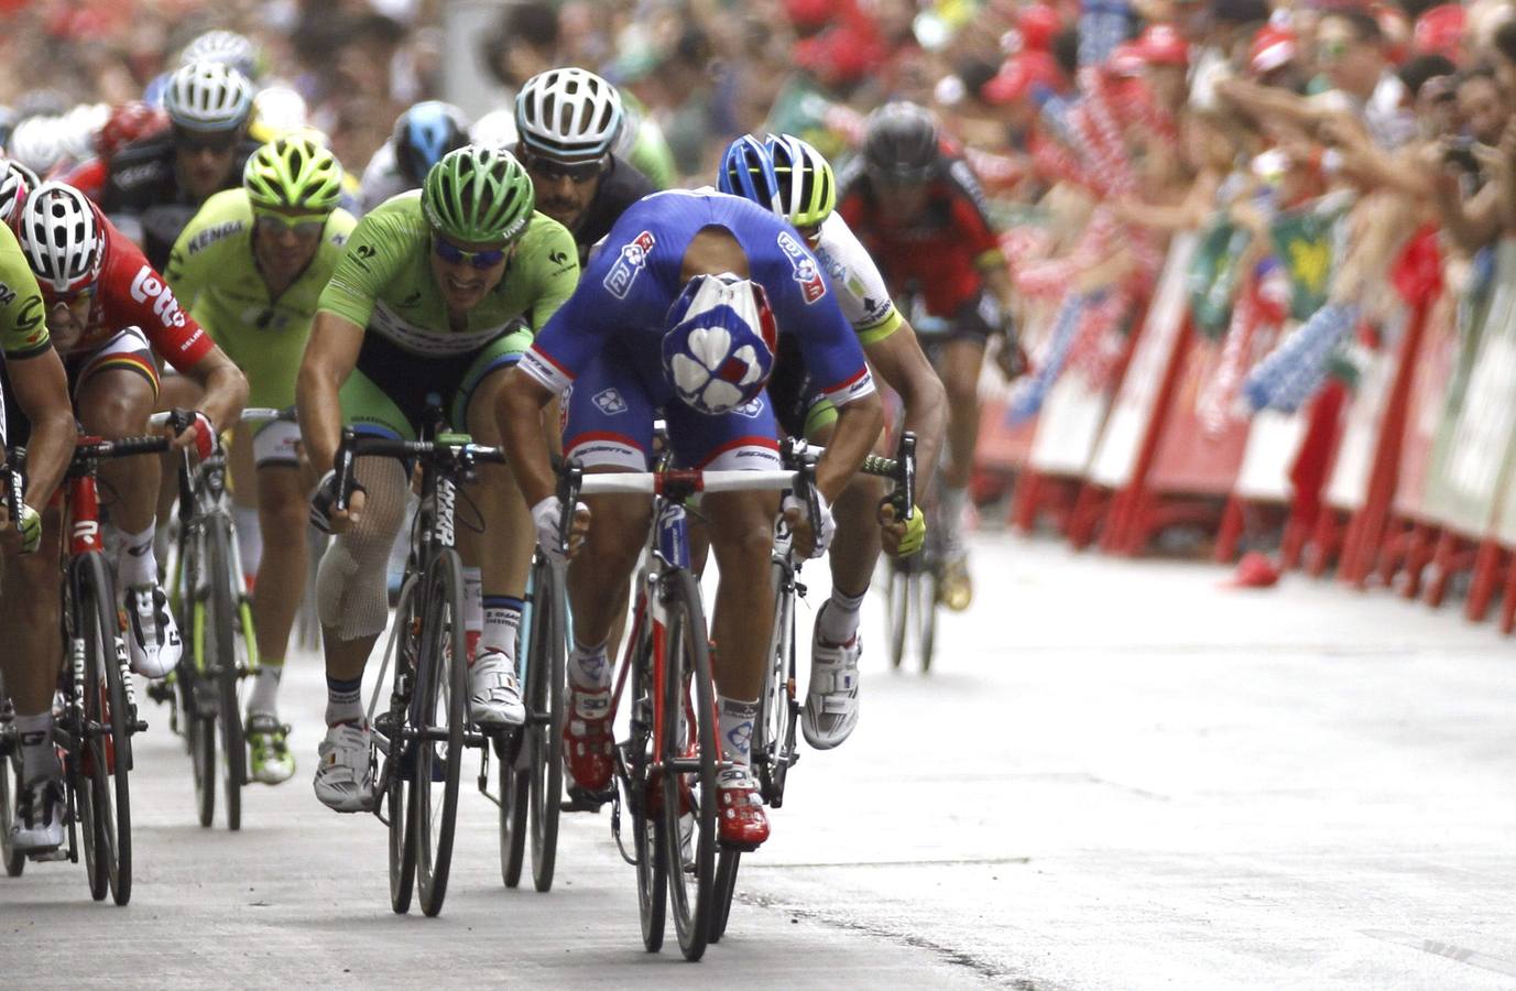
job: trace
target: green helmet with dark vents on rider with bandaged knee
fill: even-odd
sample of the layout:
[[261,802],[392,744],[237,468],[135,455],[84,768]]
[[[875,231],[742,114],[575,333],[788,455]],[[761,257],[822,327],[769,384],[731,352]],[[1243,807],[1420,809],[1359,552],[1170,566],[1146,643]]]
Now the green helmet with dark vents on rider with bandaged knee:
[[535,206],[531,177],[505,148],[470,144],[449,152],[421,185],[426,223],[467,244],[514,242]]

